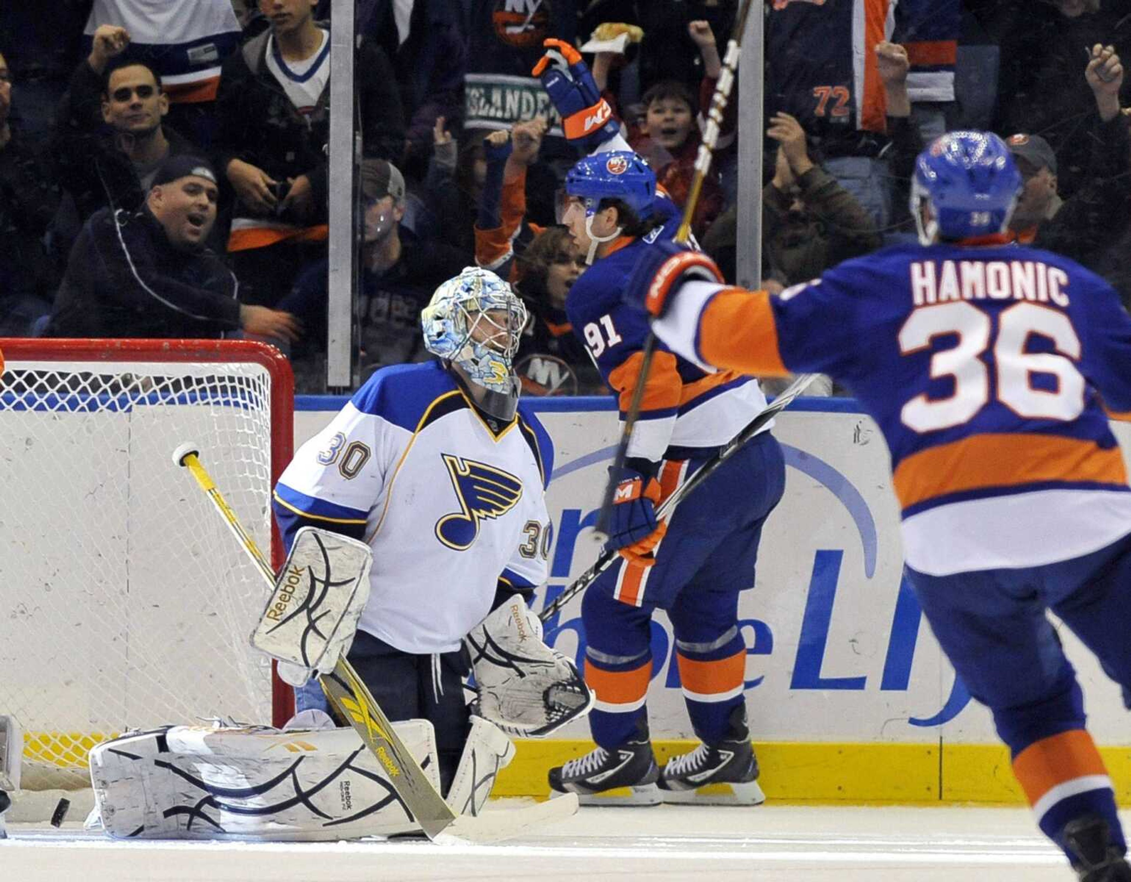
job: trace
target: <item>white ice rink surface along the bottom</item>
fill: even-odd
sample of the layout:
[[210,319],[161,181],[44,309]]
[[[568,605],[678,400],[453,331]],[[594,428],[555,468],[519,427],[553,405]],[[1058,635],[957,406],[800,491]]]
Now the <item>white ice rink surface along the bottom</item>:
[[[506,806],[506,803],[502,804]],[[503,807],[504,810],[504,807]],[[1124,818],[1126,823],[1129,818]],[[586,808],[494,846],[113,841],[9,825],[11,882],[1071,882],[1063,856],[1020,808]]]

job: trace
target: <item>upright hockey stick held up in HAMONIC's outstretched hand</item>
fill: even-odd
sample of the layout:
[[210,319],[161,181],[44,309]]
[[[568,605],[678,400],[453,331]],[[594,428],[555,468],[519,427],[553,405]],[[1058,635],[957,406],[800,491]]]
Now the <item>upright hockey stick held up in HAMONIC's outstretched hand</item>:
[[[703,189],[703,180],[710,171],[711,156],[715,153],[715,145],[718,142],[719,129],[723,126],[723,112],[726,103],[731,100],[731,89],[734,86],[734,74],[739,67],[739,54],[742,47],[742,35],[746,31],[746,18],[753,0],[743,0],[742,8],[734,23],[734,31],[731,40],[726,44],[726,54],[723,58],[723,70],[718,75],[718,83],[715,85],[715,94],[711,95],[710,111],[707,113],[707,128],[699,142],[699,153],[696,154],[694,174],[691,178],[691,189],[688,191],[688,201],[683,206],[683,218],[680,227],[675,232],[673,241],[685,244],[691,239],[691,220],[696,216],[696,207],[699,205],[699,194]],[[644,390],[648,382],[648,374],[651,372],[651,361],[656,355],[656,335],[648,331],[641,349],[640,373],[637,377],[636,388],[632,390],[632,399],[629,401],[629,409],[624,414],[624,427],[621,430],[621,441],[616,447],[616,456],[613,457],[613,468],[608,473],[608,483],[605,485],[605,498],[601,503],[601,514],[597,516],[597,530],[608,531],[608,519],[613,511],[613,494],[616,492],[618,475],[624,468],[624,460],[629,453],[629,442],[632,440],[632,430],[636,427],[637,418],[640,416],[640,405],[644,401]]]

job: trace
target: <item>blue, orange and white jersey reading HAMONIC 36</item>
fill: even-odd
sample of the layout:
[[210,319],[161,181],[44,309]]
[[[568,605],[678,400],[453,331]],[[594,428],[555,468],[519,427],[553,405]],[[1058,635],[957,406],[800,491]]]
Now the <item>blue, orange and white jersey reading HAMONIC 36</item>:
[[1035,567],[1131,531],[1105,409],[1131,410],[1131,318],[1059,254],[901,245],[777,297],[689,283],[656,330],[700,362],[848,384],[888,442],[916,570]]

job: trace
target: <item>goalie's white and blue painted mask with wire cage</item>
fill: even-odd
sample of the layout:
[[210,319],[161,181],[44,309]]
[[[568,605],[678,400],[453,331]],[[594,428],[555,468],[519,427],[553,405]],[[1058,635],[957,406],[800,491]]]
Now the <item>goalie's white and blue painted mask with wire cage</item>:
[[520,383],[515,355],[526,327],[526,306],[494,273],[467,267],[435,289],[421,312],[424,347],[458,364],[467,379],[486,390],[477,403],[491,416],[509,421]]

